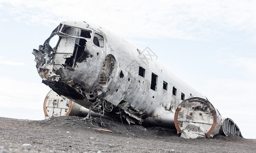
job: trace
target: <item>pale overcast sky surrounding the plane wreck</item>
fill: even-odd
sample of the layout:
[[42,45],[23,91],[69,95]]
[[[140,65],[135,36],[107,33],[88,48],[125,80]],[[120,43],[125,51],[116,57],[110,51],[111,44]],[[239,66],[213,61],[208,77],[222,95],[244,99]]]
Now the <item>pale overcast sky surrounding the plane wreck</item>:
[[58,23],[109,29],[208,97],[223,117],[256,139],[256,1],[0,0],[0,116],[44,119],[50,88],[31,54]]

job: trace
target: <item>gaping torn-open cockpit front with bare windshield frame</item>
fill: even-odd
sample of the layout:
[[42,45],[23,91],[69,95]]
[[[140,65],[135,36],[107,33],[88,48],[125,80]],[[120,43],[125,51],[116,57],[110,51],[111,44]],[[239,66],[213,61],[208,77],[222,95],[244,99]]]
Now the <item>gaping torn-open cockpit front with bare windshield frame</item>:
[[[59,37],[53,47],[56,55],[53,65],[74,68],[76,62],[81,63],[88,57],[85,49],[88,40],[91,39],[92,31],[60,24],[57,27],[57,32],[52,34]],[[56,68],[60,68],[60,66],[56,66]]]

